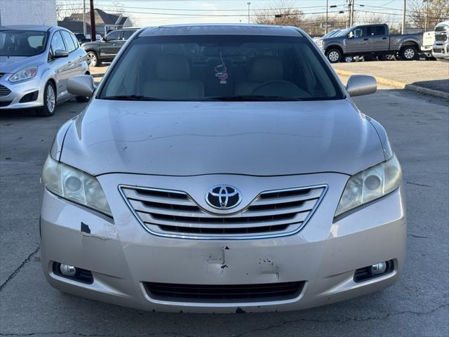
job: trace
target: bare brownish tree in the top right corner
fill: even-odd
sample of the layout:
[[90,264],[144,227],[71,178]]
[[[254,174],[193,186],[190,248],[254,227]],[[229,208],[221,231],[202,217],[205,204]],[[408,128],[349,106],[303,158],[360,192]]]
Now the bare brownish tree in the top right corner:
[[408,6],[408,21],[423,31],[449,18],[449,0],[411,0]]

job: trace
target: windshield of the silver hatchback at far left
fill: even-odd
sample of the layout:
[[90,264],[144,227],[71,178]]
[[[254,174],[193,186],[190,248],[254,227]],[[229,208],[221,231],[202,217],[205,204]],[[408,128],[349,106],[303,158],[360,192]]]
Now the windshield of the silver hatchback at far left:
[[33,56],[45,50],[47,32],[0,30],[0,56]]

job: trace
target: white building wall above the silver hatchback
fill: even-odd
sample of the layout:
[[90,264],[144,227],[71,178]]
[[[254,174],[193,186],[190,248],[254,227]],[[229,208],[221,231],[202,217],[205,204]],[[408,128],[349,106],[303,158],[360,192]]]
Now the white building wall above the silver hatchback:
[[0,26],[56,24],[56,0],[0,0]]

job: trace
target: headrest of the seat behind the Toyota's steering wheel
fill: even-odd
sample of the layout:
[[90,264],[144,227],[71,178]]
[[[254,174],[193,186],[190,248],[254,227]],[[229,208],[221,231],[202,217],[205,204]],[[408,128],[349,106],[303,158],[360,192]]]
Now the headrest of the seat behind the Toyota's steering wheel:
[[272,56],[254,58],[253,62],[250,63],[248,79],[254,82],[283,79],[283,65],[281,60]]

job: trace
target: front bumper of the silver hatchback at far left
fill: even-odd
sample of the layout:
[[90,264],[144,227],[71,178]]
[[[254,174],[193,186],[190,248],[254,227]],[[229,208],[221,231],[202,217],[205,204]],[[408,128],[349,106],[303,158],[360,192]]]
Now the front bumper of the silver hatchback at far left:
[[[0,85],[11,91],[8,95],[0,95],[0,110],[26,109],[43,106],[43,84],[39,76],[17,83],[11,83],[8,81],[10,75],[11,74],[4,74],[4,76],[0,78]],[[36,100],[20,103],[20,100],[22,100],[25,95],[34,93],[35,91],[38,92]]]

